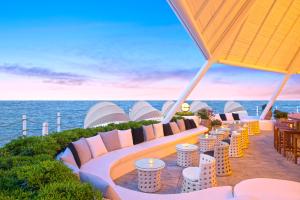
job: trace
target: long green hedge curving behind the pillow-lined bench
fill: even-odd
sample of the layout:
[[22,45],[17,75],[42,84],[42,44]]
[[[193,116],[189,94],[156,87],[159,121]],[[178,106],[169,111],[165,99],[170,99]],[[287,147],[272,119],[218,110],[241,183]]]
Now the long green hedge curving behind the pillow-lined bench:
[[60,161],[58,153],[81,137],[113,129],[126,130],[156,121],[109,124],[92,129],[73,129],[48,136],[20,137],[0,148],[0,200],[102,199],[100,191],[79,179]]

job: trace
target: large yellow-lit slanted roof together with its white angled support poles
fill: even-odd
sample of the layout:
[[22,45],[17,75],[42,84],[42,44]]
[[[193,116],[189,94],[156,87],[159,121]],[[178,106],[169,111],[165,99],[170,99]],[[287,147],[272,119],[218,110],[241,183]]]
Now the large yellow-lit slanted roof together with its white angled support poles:
[[285,74],[262,112],[264,119],[290,76],[300,73],[300,1],[168,1],[207,61],[164,122],[170,121],[214,63]]

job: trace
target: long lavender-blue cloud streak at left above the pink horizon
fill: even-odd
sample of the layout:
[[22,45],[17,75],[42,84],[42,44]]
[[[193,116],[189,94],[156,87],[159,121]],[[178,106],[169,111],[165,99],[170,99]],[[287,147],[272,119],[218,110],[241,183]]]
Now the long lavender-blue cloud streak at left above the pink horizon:
[[55,72],[40,67],[23,67],[20,65],[0,65],[0,72],[18,76],[42,78],[45,83],[61,85],[82,85],[89,77],[68,72]]

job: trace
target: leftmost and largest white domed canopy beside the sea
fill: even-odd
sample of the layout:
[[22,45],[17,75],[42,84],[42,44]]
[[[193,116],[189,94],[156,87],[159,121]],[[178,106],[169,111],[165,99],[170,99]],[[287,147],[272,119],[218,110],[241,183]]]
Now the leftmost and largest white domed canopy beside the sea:
[[84,128],[127,121],[129,118],[122,108],[111,102],[100,102],[89,109],[84,120]]

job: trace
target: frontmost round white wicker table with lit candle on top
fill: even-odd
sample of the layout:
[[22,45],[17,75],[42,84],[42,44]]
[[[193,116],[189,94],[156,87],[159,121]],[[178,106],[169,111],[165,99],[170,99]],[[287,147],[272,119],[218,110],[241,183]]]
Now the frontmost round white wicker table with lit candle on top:
[[138,170],[138,188],[143,192],[156,192],[161,188],[161,170],[165,163],[159,159],[141,159],[135,162]]

